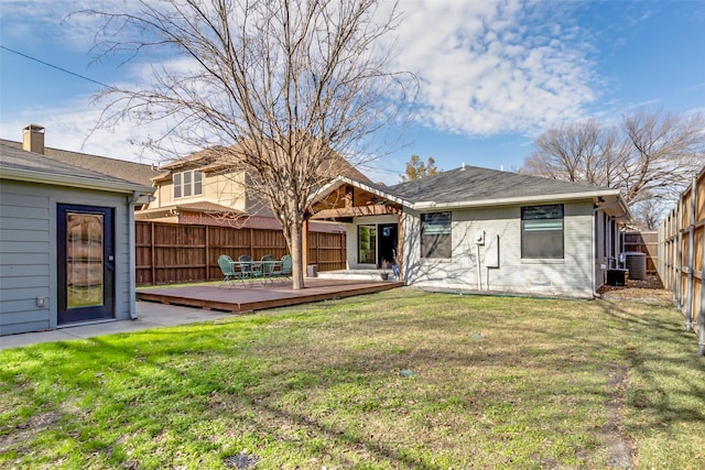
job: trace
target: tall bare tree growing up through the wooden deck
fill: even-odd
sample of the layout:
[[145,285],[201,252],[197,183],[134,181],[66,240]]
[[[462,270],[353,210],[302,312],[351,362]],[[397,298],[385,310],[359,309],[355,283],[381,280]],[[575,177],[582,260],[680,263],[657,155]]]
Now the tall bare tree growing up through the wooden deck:
[[[380,0],[141,0],[95,11],[98,57],[152,61],[152,85],[111,88],[100,125],[165,121],[151,142],[212,150],[246,174],[282,223],[303,288],[303,223],[312,194],[375,155],[365,143],[400,117],[414,77],[391,73],[395,4]],[[367,152],[362,152],[367,150]],[[378,150],[378,149],[376,149]]]

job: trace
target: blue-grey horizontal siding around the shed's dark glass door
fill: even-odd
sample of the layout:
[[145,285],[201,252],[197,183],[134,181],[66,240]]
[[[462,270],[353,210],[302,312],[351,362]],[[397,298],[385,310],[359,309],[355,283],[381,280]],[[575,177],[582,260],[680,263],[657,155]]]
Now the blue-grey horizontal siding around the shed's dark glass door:
[[[130,316],[126,195],[2,181],[0,185],[0,335],[56,328],[56,206],[115,209],[117,319]],[[43,298],[44,307],[37,307]]]

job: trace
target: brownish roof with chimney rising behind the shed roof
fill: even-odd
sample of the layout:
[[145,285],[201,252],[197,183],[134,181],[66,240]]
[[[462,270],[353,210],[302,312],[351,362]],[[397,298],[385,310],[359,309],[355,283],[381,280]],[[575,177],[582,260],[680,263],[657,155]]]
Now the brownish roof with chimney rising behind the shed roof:
[[[21,142],[0,139],[0,144],[22,150]],[[143,163],[128,162],[124,160],[109,159],[107,156],[90,155],[80,152],[70,152],[48,146],[44,147],[43,156],[56,162],[115,176],[143,186],[151,186],[151,178],[160,174],[160,172],[152,165],[145,165]]]

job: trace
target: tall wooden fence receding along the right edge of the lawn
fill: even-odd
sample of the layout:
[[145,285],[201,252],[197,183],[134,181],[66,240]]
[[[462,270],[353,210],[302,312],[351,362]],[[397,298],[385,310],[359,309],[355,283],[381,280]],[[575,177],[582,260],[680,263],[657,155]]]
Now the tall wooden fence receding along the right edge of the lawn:
[[705,353],[705,167],[659,228],[659,274]]

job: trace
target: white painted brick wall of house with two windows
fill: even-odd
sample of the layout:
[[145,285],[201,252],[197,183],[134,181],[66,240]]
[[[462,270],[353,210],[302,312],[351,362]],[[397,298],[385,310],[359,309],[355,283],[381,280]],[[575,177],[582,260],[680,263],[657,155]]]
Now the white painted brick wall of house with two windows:
[[[589,201],[564,204],[563,260],[521,259],[521,206],[454,210],[452,229],[452,259],[421,259],[420,215],[405,214],[406,284],[533,295],[593,295],[593,206]],[[485,236],[485,245],[479,247],[481,282],[478,282],[478,245],[475,241],[478,231]],[[499,267],[487,267],[487,252],[497,242]]]

